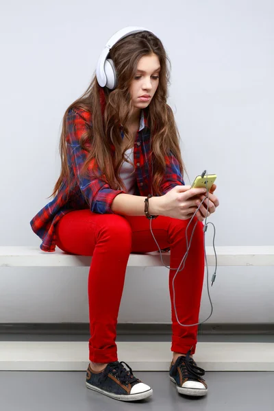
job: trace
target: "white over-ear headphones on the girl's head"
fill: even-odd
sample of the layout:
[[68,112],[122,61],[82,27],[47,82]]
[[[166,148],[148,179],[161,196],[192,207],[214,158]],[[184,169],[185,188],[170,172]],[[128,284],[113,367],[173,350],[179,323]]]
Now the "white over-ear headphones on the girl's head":
[[110,90],[113,90],[116,87],[116,71],[114,62],[111,58],[108,58],[108,53],[110,53],[112,46],[121,40],[121,38],[129,36],[129,34],[144,31],[151,32],[151,30],[145,29],[145,27],[125,27],[124,29],[119,30],[119,32],[116,32],[110,40],[108,40],[105,48],[101,52],[96,68],[97,81],[101,87],[106,86]]

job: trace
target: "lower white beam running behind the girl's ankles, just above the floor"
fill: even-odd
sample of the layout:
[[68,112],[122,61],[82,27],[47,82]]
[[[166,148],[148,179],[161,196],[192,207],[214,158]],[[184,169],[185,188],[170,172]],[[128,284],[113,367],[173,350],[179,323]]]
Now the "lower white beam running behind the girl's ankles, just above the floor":
[[[171,344],[119,342],[119,361],[135,371],[168,371]],[[206,371],[274,371],[273,344],[197,343],[195,361]],[[86,371],[88,342],[3,341],[0,371]]]

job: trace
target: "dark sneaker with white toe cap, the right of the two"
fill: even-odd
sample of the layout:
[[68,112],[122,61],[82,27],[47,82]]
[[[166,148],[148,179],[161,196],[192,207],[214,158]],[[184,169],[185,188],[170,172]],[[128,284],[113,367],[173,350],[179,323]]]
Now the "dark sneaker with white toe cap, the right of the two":
[[169,376],[175,382],[178,393],[201,397],[208,393],[208,386],[201,375],[205,375],[205,370],[199,368],[193,358],[190,358],[190,351],[186,356],[177,358],[175,364],[171,362]]

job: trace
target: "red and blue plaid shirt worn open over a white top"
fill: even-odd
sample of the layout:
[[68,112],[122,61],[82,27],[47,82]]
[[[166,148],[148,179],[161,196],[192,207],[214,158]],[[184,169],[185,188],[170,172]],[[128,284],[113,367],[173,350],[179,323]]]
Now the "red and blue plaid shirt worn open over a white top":
[[[34,216],[30,225],[37,234],[42,244],[42,251],[55,251],[55,224],[64,214],[73,210],[90,209],[99,214],[114,214],[111,209],[112,201],[116,195],[125,192],[123,190],[112,190],[108,184],[99,178],[81,177],[79,170],[87,158],[87,151],[79,145],[79,139],[85,131],[86,121],[91,124],[91,114],[82,109],[70,109],[66,122],[68,133],[66,135],[66,153],[71,173],[72,185],[69,191],[68,184],[63,180],[58,193],[42,210]],[[123,138],[123,127],[121,126],[121,136]],[[141,111],[140,127],[136,133],[134,142],[134,165],[136,168],[136,195],[147,196],[151,192],[151,170],[147,158],[149,156],[150,129],[147,127],[147,114]],[[114,146],[112,146],[114,150]],[[94,165],[93,165],[94,167]],[[92,169],[92,164],[89,170]],[[100,172],[98,170],[98,172]],[[100,175],[100,174],[99,174]],[[170,153],[166,156],[166,172],[162,179],[160,191],[162,195],[171,188],[184,185],[182,174],[179,171],[177,159]]]

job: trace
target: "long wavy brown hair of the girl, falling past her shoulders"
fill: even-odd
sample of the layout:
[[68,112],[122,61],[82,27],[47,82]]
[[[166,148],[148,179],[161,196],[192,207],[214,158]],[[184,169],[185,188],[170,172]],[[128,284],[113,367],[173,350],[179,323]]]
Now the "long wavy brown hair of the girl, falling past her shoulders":
[[[119,177],[119,169],[124,160],[124,153],[130,147],[121,148],[120,125],[125,125],[134,112],[129,94],[129,86],[137,70],[138,60],[144,55],[154,53],[160,61],[160,78],[158,88],[153,95],[153,99],[147,108],[147,124],[151,130],[151,153],[153,162],[152,188],[153,193],[160,195],[160,182],[166,168],[165,156],[171,151],[180,164],[180,171],[184,176],[186,171],[179,147],[179,132],[175,123],[175,118],[171,107],[166,103],[168,95],[168,85],[170,84],[171,66],[169,57],[162,42],[151,32],[138,32],[131,34],[116,42],[110,50],[110,58],[114,62],[117,77],[117,86],[114,90],[101,88],[94,73],[92,82],[84,94],[75,100],[64,113],[62,119],[62,133],[60,137],[61,173],[55,184],[54,196],[64,178],[71,182],[71,175],[66,155],[66,117],[69,110],[73,108],[84,109],[92,115],[92,127],[86,122],[86,131],[82,134],[80,145],[88,152],[86,162],[81,173],[84,175],[90,164],[96,161],[103,178],[114,190],[125,186]],[[103,92],[103,102],[102,102]],[[102,104],[104,105],[102,110]],[[83,117],[84,118],[84,117]],[[123,128],[125,137],[129,136],[126,126]],[[114,155],[111,146],[115,148]],[[91,147],[91,148],[90,148]]]

